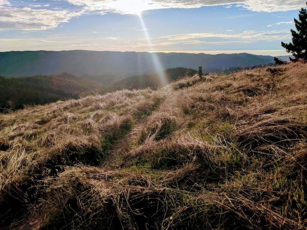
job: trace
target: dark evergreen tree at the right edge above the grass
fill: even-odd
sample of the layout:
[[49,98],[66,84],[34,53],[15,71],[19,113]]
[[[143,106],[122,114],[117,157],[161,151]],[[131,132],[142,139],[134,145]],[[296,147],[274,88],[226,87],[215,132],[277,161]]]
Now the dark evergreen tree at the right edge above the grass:
[[294,59],[290,58],[292,62],[299,59],[307,60],[307,9],[301,8],[298,17],[299,20],[294,18],[297,31],[291,29],[292,43],[286,44],[282,42],[282,47],[288,53],[291,52],[293,54]]

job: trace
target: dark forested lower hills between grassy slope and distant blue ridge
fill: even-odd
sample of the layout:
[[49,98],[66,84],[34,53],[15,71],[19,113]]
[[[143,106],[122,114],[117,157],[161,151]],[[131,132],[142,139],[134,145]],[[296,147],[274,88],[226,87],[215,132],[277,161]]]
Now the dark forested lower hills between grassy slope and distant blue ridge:
[[[177,67],[164,71],[166,83],[181,77],[193,76],[195,70]],[[68,73],[36,75],[24,78],[0,76],[0,113],[6,109],[21,109],[24,105],[38,105],[87,94],[114,90],[157,88],[161,86],[158,74],[151,75],[83,75]]]

